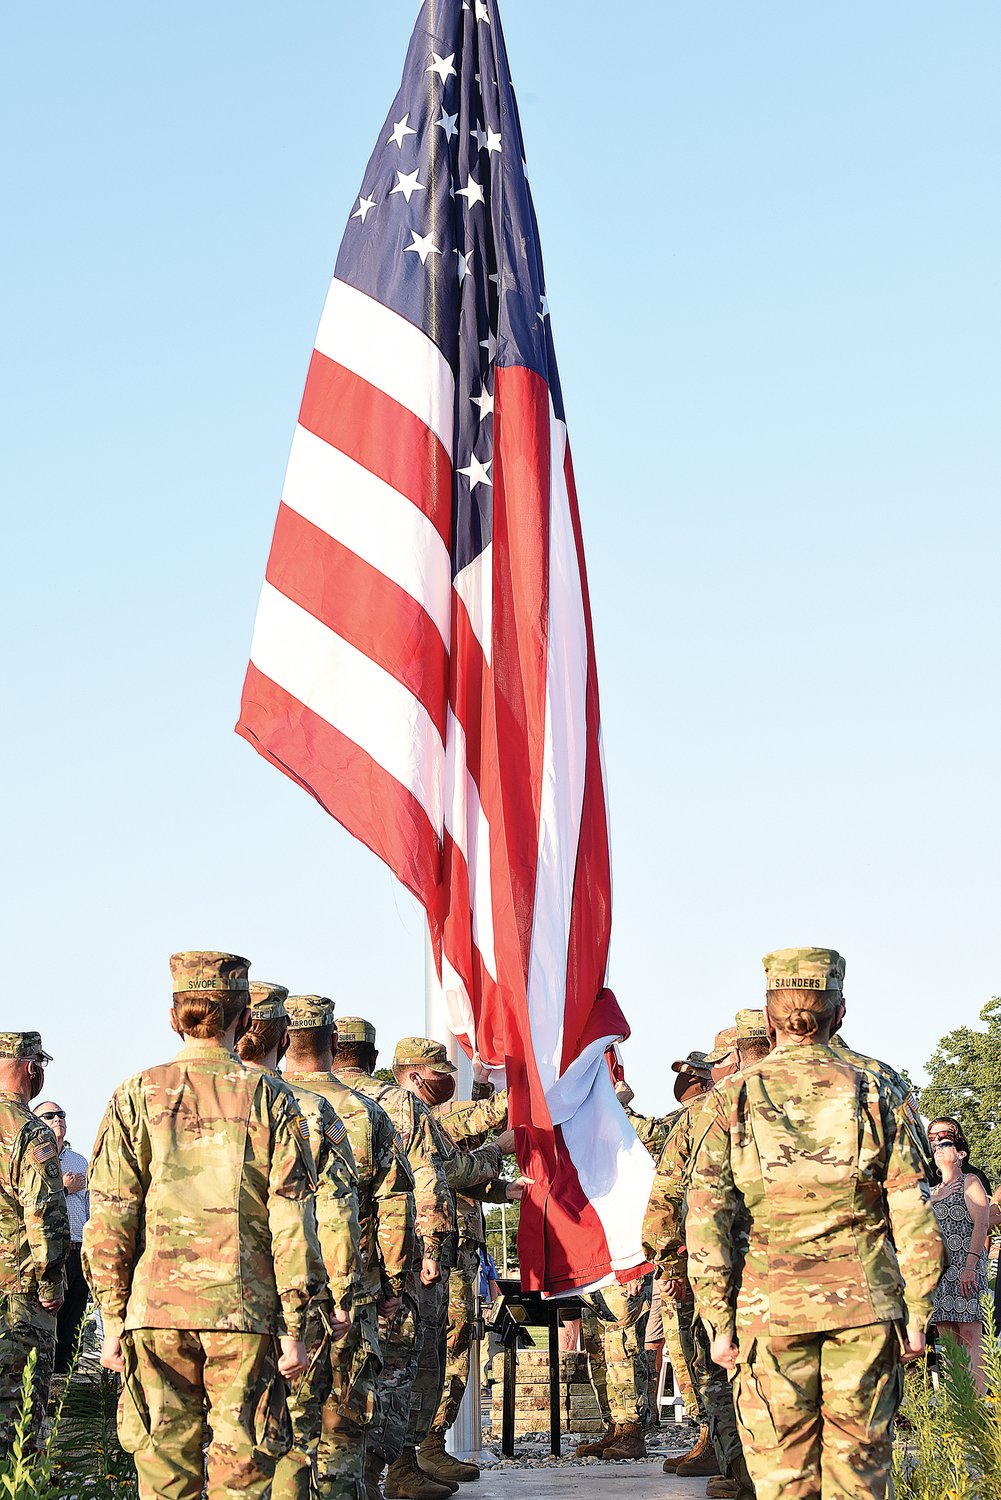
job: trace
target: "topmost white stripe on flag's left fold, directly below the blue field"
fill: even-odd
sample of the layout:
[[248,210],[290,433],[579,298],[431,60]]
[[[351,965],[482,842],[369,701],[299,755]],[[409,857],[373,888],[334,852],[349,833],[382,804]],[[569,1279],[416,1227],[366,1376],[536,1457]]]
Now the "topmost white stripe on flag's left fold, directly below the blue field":
[[317,348],[413,411],[452,454],[455,378],[444,354],[422,328],[335,276]]

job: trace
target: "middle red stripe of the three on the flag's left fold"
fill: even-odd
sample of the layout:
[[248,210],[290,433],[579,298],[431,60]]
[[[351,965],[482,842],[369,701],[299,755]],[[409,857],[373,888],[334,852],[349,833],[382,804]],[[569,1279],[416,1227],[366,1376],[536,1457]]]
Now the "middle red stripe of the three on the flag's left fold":
[[402,682],[428,710],[444,744],[444,640],[407,590],[285,502],[278,510],[267,580]]

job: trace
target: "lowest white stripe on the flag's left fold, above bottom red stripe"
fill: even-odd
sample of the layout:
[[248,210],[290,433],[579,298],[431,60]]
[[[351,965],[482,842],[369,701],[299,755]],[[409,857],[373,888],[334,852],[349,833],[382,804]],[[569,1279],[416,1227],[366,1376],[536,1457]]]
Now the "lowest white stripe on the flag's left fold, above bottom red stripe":
[[261,590],[251,660],[395,776],[441,832],[444,746],[428,710],[396,678],[270,584]]

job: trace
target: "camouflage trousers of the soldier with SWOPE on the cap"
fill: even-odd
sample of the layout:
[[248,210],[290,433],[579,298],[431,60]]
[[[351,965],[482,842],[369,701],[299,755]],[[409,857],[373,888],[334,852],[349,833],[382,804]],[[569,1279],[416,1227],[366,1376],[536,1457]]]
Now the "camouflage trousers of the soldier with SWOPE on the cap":
[[270,1334],[143,1328],[123,1336],[122,1354],[119,1438],[143,1500],[270,1494],[291,1443]]

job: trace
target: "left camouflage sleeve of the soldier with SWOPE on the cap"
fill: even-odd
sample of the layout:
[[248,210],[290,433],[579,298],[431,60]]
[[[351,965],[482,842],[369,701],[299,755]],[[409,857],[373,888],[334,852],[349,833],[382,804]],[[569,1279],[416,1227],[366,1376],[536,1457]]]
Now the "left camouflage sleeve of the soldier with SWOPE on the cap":
[[105,1334],[120,1336],[140,1257],[149,1137],[140,1090],[123,1084],[105,1110],[90,1164],[90,1218],[84,1224],[83,1268]]

